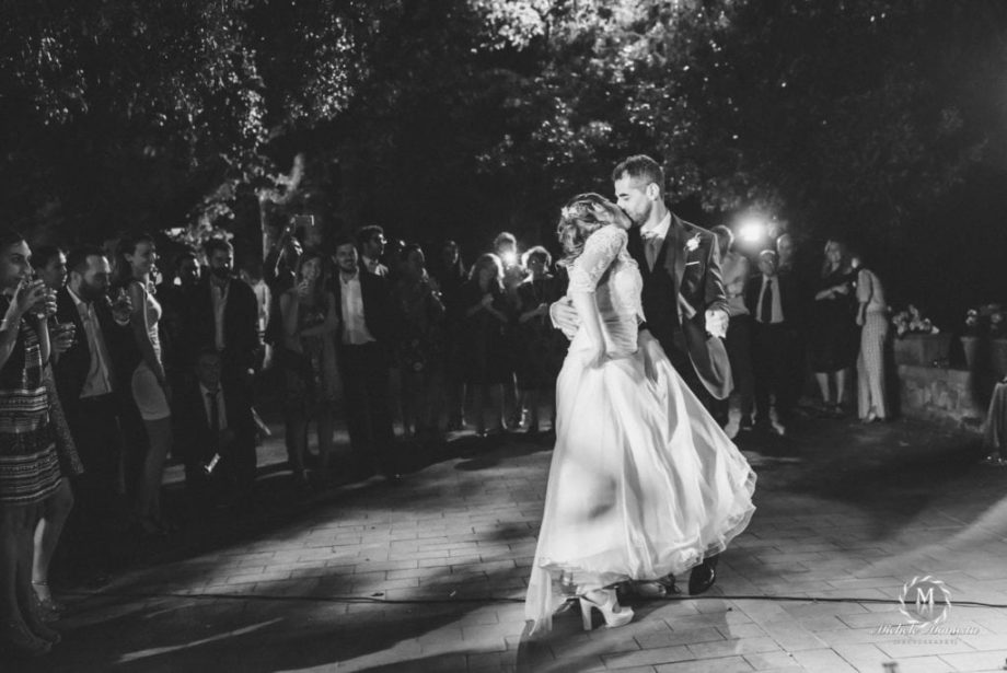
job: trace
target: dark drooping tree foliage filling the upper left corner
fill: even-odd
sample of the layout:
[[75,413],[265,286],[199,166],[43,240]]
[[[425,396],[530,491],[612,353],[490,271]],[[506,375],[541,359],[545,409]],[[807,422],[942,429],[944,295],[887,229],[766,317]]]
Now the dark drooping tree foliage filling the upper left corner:
[[[3,207],[19,224],[44,217],[93,237],[205,227],[231,214],[241,186],[276,186],[267,142],[334,118],[351,93],[354,36],[343,15],[316,21],[342,3],[311,4],[19,5],[0,24]],[[283,21],[262,20],[281,7]]]

